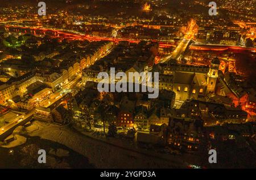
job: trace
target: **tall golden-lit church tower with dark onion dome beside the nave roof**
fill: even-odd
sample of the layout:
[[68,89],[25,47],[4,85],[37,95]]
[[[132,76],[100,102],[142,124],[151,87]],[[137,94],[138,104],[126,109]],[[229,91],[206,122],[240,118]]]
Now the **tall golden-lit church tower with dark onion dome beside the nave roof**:
[[220,60],[218,59],[218,57],[214,57],[212,62],[210,62],[210,69],[207,74],[207,91],[206,91],[207,94],[213,93],[215,91],[219,66],[220,66]]

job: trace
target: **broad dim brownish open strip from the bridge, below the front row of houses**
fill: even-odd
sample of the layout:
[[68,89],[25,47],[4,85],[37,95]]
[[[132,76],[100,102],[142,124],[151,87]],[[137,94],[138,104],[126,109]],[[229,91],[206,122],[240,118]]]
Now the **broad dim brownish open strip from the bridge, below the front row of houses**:
[[181,158],[177,156],[158,156],[157,153],[152,154],[146,149],[133,147],[132,142],[129,149],[124,145],[125,143],[120,143],[126,140],[100,140],[69,127],[34,123],[39,126],[39,130],[28,135],[63,144],[88,157],[89,162],[96,168],[186,168]]

